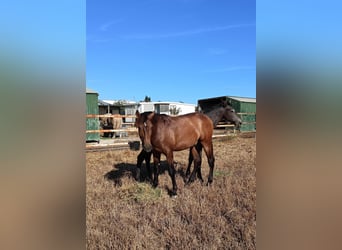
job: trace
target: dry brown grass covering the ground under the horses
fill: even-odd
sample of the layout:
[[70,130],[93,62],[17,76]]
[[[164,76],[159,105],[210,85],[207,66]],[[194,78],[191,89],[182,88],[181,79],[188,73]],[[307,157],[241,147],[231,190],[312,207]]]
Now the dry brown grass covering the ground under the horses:
[[188,151],[176,152],[175,198],[163,157],[158,188],[134,180],[138,153],[87,153],[87,249],[256,249],[255,138],[214,141],[210,187],[184,185]]

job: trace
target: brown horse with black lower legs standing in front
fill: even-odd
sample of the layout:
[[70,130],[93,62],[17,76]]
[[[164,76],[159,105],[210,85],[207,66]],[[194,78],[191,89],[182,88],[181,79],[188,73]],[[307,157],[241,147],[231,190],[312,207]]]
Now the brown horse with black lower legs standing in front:
[[180,116],[167,116],[155,114],[154,112],[136,112],[136,127],[146,152],[153,152],[154,178],[153,185],[158,186],[158,165],[160,155],[166,156],[169,164],[169,175],[172,180],[172,195],[177,194],[175,179],[175,168],[173,162],[173,151],[181,151],[191,148],[195,168],[191,173],[189,181],[194,180],[197,168],[201,163],[199,152],[196,149],[198,143],[204,148],[210,167],[208,184],[213,181],[214,152],[212,144],[213,122],[201,113],[190,113]]

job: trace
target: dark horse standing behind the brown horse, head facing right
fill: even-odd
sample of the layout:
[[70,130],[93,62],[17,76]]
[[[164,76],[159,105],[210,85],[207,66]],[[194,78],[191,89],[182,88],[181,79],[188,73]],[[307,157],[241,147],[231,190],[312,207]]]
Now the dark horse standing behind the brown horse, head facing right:
[[[206,114],[212,120],[214,127],[216,127],[217,124],[222,120],[233,123],[236,129],[239,129],[241,126],[241,119],[235,113],[235,110],[231,107],[231,105],[229,105],[226,101],[222,101],[219,105],[215,106],[209,112],[204,112],[204,114]],[[201,144],[196,145],[196,147],[201,157],[201,152],[202,152]],[[146,162],[146,169],[147,169],[147,175],[148,175],[147,178],[152,180],[152,173],[151,173],[151,167],[150,167],[151,154],[152,152],[147,153],[143,149],[138,155],[136,180],[140,181],[141,165],[144,160]],[[186,176],[190,175],[190,167],[191,167],[192,162],[193,162],[193,156],[192,156],[191,149],[190,149],[189,150],[189,163],[188,163],[188,167],[186,170]],[[201,181],[203,181],[202,174],[201,174],[201,166],[198,167],[197,177]]]

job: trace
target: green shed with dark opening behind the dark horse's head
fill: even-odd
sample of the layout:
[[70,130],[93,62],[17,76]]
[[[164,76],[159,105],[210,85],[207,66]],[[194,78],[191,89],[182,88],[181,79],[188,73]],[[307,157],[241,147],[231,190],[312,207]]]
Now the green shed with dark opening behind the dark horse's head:
[[256,131],[256,98],[220,96],[198,100],[198,106],[204,112],[209,111],[213,106],[220,105],[222,101],[228,101],[241,117],[241,131]]

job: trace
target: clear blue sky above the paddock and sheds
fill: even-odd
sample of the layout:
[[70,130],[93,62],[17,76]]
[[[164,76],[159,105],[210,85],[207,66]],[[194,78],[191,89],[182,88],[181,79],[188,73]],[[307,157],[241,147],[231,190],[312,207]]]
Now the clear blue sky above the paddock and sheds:
[[255,1],[86,4],[86,85],[100,99],[256,96]]

